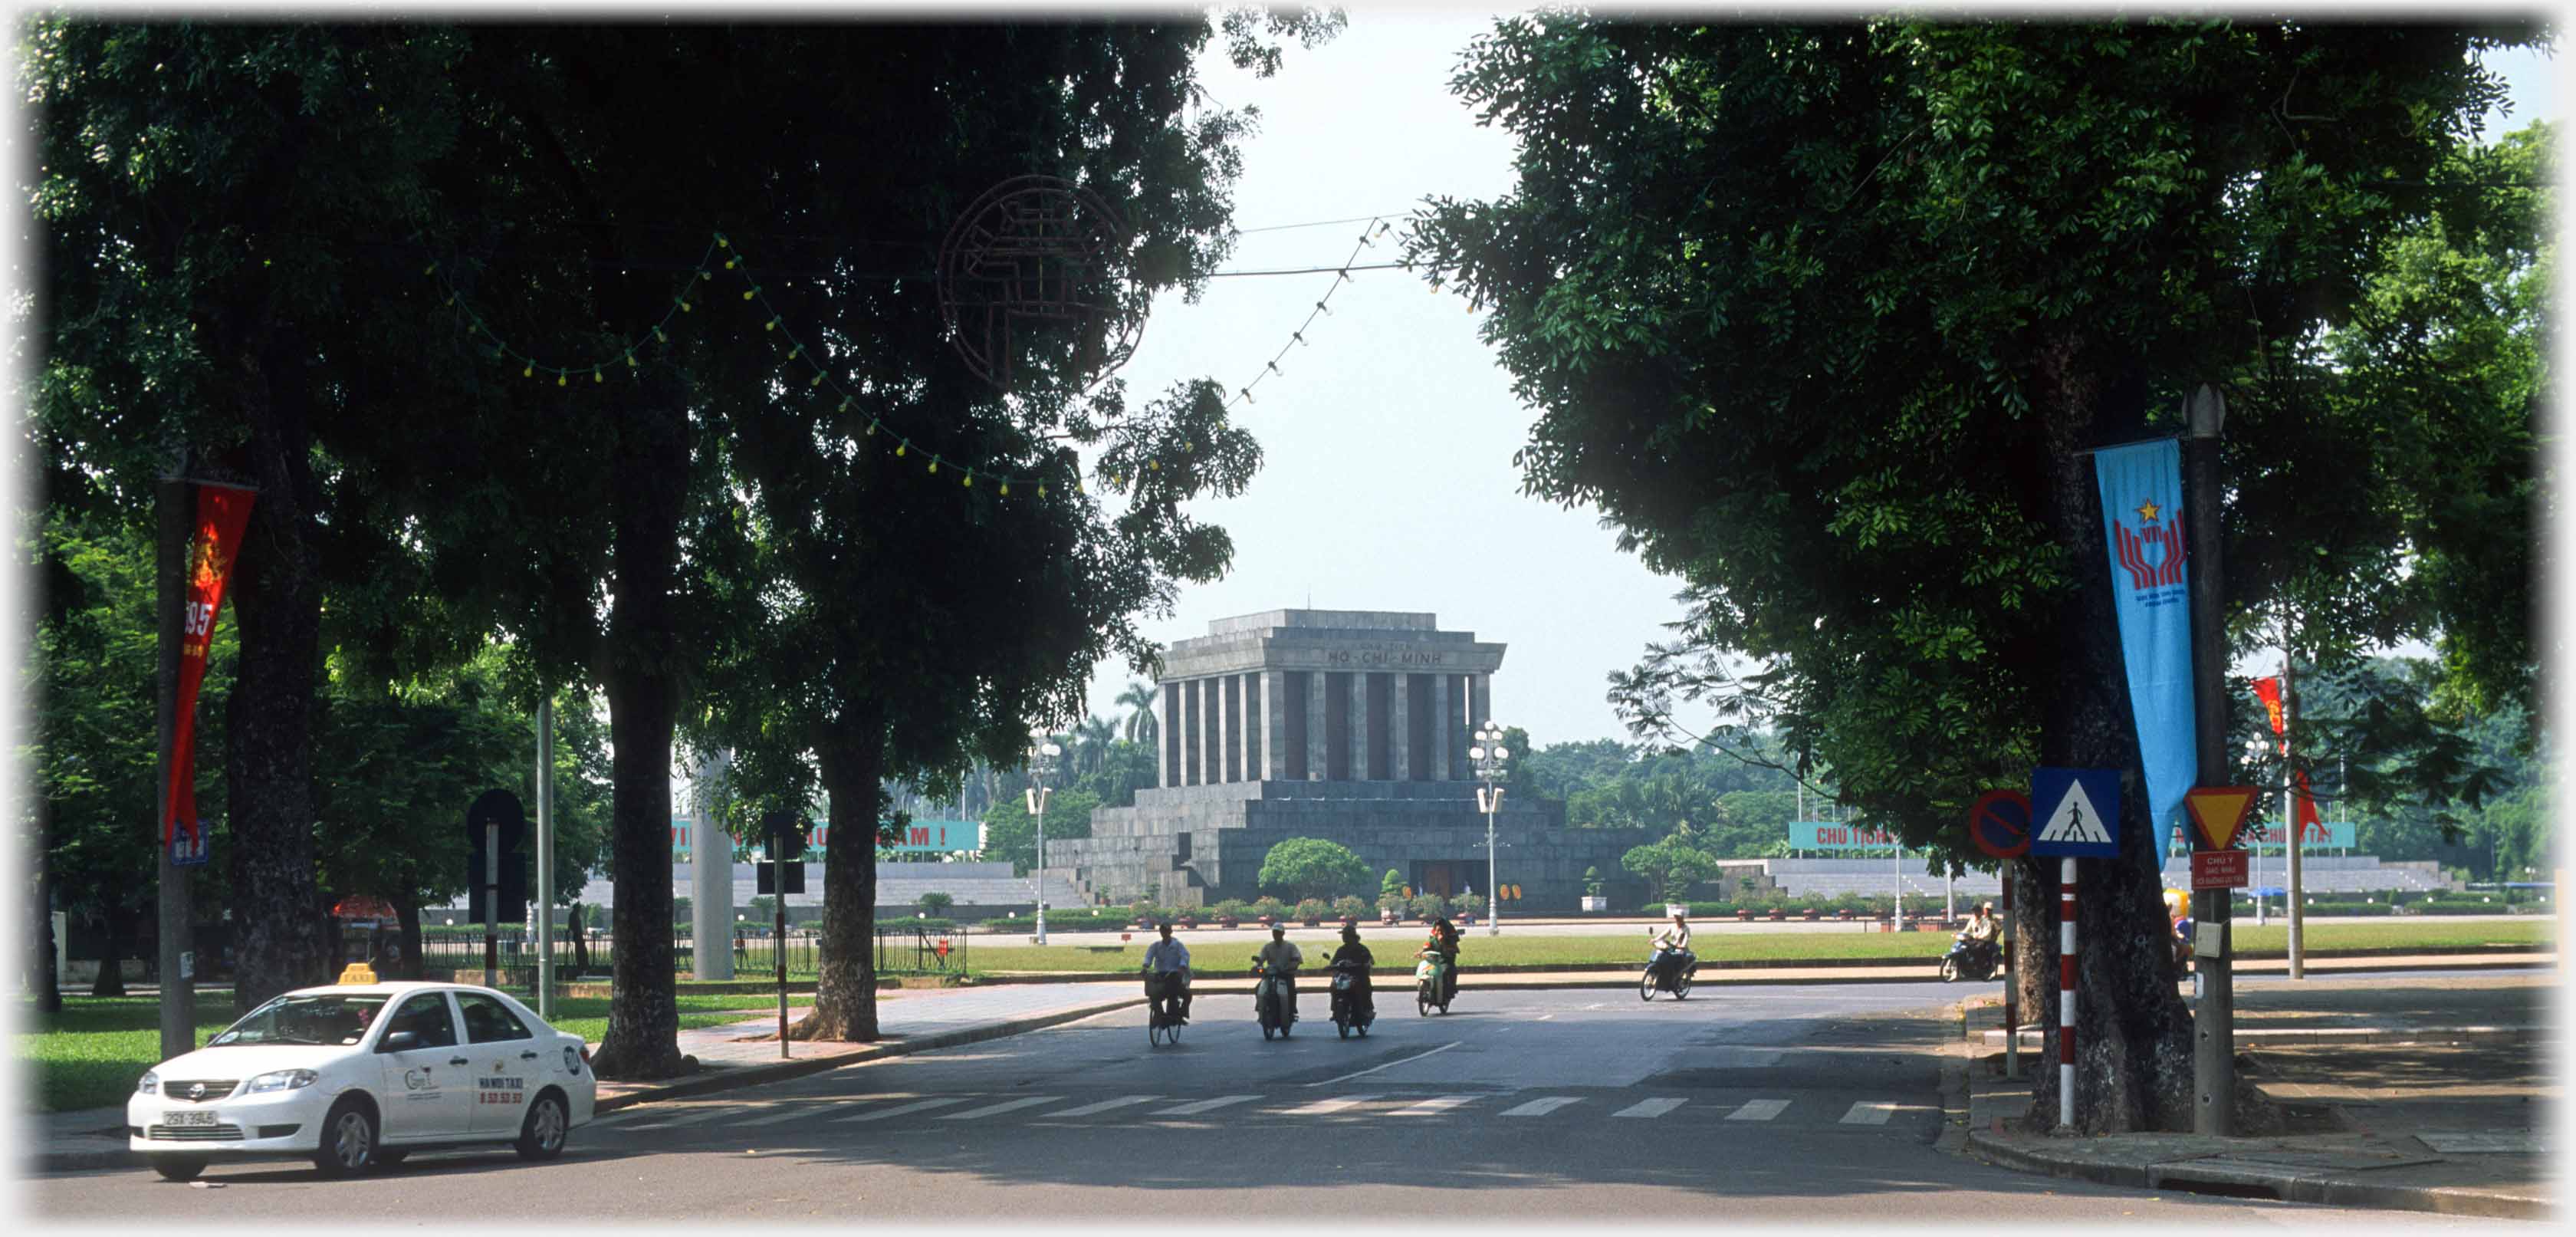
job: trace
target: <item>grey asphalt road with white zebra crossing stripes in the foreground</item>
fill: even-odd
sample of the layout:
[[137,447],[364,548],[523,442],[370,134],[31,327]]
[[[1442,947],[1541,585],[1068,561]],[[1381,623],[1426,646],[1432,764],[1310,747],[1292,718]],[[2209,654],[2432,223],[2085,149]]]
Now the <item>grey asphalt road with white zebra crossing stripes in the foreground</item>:
[[[252,1222],[461,1214],[889,1222],[1144,1216],[2329,1224],[2269,1201],[2143,1196],[1940,1152],[1942,984],[1466,992],[1388,1000],[1337,1039],[1321,992],[1262,1041],[1206,997],[1182,1044],[1126,1010],[1028,1036],[652,1103],[551,1165],[430,1152],[358,1180],[229,1162],[23,1183],[54,1219]],[[469,1203],[471,1201],[471,1203]],[[2439,1224],[2434,1216],[2403,1222]]]

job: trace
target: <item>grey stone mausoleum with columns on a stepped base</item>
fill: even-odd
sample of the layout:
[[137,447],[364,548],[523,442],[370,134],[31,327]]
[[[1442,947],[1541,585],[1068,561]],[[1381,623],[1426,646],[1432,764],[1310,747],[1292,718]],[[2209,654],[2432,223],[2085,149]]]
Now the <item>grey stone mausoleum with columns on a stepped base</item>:
[[[1164,649],[1159,783],[1095,809],[1090,838],[1051,840],[1048,871],[1087,899],[1188,907],[1260,897],[1273,845],[1324,838],[1414,892],[1492,894],[1466,750],[1494,716],[1502,655],[1430,613],[1218,618]],[[1569,830],[1561,804],[1504,796],[1494,832],[1497,879],[1522,894],[1504,915],[1579,910],[1584,868],[1613,905],[1643,892],[1618,866],[1643,830]]]

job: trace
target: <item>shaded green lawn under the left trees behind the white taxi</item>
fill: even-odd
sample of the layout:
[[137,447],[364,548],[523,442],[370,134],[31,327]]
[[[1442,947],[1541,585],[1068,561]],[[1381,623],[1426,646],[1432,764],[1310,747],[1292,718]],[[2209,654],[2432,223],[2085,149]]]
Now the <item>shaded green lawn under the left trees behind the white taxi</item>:
[[[526,1000],[526,997],[523,997]],[[762,1002],[755,995],[680,997],[680,1028],[739,1023],[744,1018],[775,1015],[778,997]],[[814,1005],[814,997],[788,997],[788,1005]],[[232,1026],[227,995],[198,997],[196,1041]],[[18,1033],[18,1059],[33,1064],[33,1100],[39,1111],[62,1113],[72,1108],[106,1108],[124,1103],[134,1093],[134,1080],[144,1077],[160,1057],[160,1002],[155,997],[62,997],[62,1013],[39,1015],[23,1010],[28,1031]],[[214,1013],[209,1021],[206,1013]],[[592,1044],[608,1033],[608,997],[559,997],[554,1026]]]

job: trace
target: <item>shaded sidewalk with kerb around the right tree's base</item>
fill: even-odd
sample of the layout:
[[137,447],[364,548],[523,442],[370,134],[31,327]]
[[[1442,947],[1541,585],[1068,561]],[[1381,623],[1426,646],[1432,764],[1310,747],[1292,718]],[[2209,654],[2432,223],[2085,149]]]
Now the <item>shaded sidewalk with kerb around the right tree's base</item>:
[[[2318,966],[2311,966],[2316,972]],[[2555,974],[2316,977],[2236,990],[2239,1085],[2295,1111],[2295,1134],[2027,1134],[2025,1054],[2002,1077],[2002,1033],[1953,1064],[1953,1121],[1989,1162],[2143,1191],[2548,1219],[2558,1206],[2553,1116],[2563,1093],[2545,1028]],[[1994,1010],[1971,1010],[1991,1023]]]

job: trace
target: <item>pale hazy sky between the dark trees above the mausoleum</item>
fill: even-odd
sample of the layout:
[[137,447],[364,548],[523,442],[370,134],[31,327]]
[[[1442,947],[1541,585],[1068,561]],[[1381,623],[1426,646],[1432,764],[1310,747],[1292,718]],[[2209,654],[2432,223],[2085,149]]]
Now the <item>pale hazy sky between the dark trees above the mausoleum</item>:
[[[1211,41],[1203,75],[1224,106],[1257,106],[1244,142],[1234,271],[1340,263],[1365,224],[1270,229],[1381,211],[1425,196],[1489,198],[1512,186],[1512,142],[1448,93],[1458,52],[1492,26],[1486,13],[1350,13],[1350,28],[1314,52],[1288,52],[1273,80],[1224,59]],[[2501,57],[2517,116],[2561,119],[2553,67]],[[2491,131],[2499,131],[2494,124]],[[1391,260],[1394,235],[1360,263]],[[1242,387],[1288,343],[1334,276],[1216,278],[1198,304],[1154,307],[1131,397],[1190,376]],[[1476,338],[1476,314],[1406,271],[1355,273],[1332,314],[1280,376],[1252,389],[1239,423],[1265,464],[1236,500],[1193,510],[1234,536],[1234,570],[1185,585],[1162,642],[1203,637],[1208,621],[1275,608],[1432,611],[1443,629],[1510,644],[1494,675],[1494,719],[1528,727],[1535,745],[1620,737],[1605,675],[1638,660],[1680,616],[1674,580],[1613,549],[1592,508],[1564,510],[1520,495],[1512,451],[1535,420],[1510,374]],[[1090,706],[1133,675],[1105,662]],[[1690,722],[1690,716],[1685,716]]]

